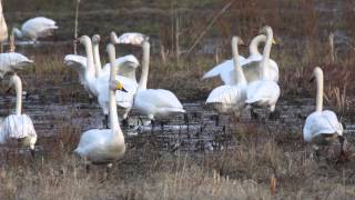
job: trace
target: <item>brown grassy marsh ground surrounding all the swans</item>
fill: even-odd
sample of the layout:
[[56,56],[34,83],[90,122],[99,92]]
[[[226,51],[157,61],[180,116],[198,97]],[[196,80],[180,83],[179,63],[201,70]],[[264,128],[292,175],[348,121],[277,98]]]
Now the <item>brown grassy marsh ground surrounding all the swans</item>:
[[[149,87],[174,91],[190,119],[189,130],[182,117],[174,118],[164,130],[126,130],[126,154],[105,177],[102,167],[94,167],[87,176],[72,154],[82,131],[102,126],[98,106],[89,103],[77,74],[62,63],[63,56],[72,53],[74,1],[6,0],[8,24],[47,16],[61,28],[48,39],[53,43],[18,47],[36,60],[34,67],[20,76],[29,92],[23,109],[41,138],[36,158],[24,149],[1,147],[0,199],[354,199],[352,152],[349,160],[338,159],[334,144],[315,157],[302,139],[304,118],[314,103],[315,90],[308,78],[312,69],[321,66],[326,107],[346,124],[352,149],[354,2],[235,0],[207,29],[227,3],[81,1],[79,32],[103,36],[102,49],[111,30],[151,36]],[[266,23],[281,43],[272,52],[281,69],[281,119],[255,121],[245,111],[240,121],[223,116],[215,126],[215,113],[203,106],[203,100],[220,81],[200,78],[230,58],[233,34],[248,41]],[[334,51],[328,40],[332,32]],[[82,53],[82,48],[79,51]],[[136,48],[118,47],[118,52],[141,57]],[[244,49],[243,54],[246,52]],[[13,107],[12,96],[2,94],[0,104],[0,113],[6,116]],[[136,113],[132,116],[134,120]],[[272,177],[276,179],[275,193]]]

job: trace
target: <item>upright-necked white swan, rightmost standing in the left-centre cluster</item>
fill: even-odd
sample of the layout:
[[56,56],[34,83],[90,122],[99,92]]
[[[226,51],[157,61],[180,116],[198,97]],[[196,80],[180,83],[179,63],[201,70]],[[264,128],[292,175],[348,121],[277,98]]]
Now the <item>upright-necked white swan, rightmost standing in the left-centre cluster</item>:
[[173,92],[164,89],[146,89],[150,43],[148,41],[143,41],[142,48],[142,73],[139,88],[134,97],[134,107],[142,114],[148,116],[150,120],[162,120],[169,118],[172,113],[184,113],[185,110]]

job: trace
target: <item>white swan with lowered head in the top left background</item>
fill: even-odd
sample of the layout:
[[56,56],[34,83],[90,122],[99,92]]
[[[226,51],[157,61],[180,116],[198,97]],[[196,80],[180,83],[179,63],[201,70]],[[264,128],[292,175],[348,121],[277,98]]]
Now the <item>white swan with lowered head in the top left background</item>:
[[18,38],[26,38],[32,41],[37,41],[39,38],[48,37],[52,34],[52,31],[58,29],[55,21],[44,17],[37,17],[27,20],[21,30],[13,28],[12,32]]

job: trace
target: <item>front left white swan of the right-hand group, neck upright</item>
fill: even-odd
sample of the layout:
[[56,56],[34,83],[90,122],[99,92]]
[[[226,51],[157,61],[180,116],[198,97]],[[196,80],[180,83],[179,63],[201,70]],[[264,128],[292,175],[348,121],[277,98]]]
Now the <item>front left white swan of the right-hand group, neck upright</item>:
[[234,70],[236,76],[235,84],[224,84],[212,90],[206,104],[213,104],[220,113],[235,113],[240,116],[240,112],[245,106],[246,99],[246,79],[241,67],[239,59],[237,44],[243,44],[243,41],[239,37],[232,39],[232,52],[234,60]]

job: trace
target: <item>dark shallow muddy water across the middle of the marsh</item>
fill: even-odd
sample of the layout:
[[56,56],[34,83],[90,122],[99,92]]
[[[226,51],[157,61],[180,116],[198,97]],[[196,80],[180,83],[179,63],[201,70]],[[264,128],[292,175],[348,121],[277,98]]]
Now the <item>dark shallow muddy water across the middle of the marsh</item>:
[[[23,101],[23,112],[33,120],[36,130],[40,138],[55,137],[63,126],[72,126],[80,131],[93,128],[103,128],[101,109],[85,98],[59,102],[58,88],[49,89],[50,92],[43,98],[36,93],[29,93]],[[83,91],[83,97],[85,97]],[[26,98],[26,97],[23,97]],[[6,117],[14,110],[14,94],[2,94],[0,98],[0,116]],[[130,126],[124,128],[128,142],[136,140],[150,140],[153,137],[155,144],[164,151],[211,151],[235,148],[233,133],[239,127],[256,126],[263,123],[268,131],[282,129],[294,134],[302,134],[302,126],[308,113],[314,109],[314,100],[300,98],[297,100],[281,100],[277,104],[280,119],[268,120],[267,112],[260,109],[256,112],[260,120],[251,119],[248,110],[236,119],[229,116],[220,116],[206,108],[203,101],[185,102],[186,116],[175,116],[161,126],[143,126],[136,110],[131,112]],[[217,120],[219,119],[219,120]],[[346,126],[345,133],[353,134],[355,126],[351,119],[343,119]],[[41,143],[39,143],[41,146]]]

